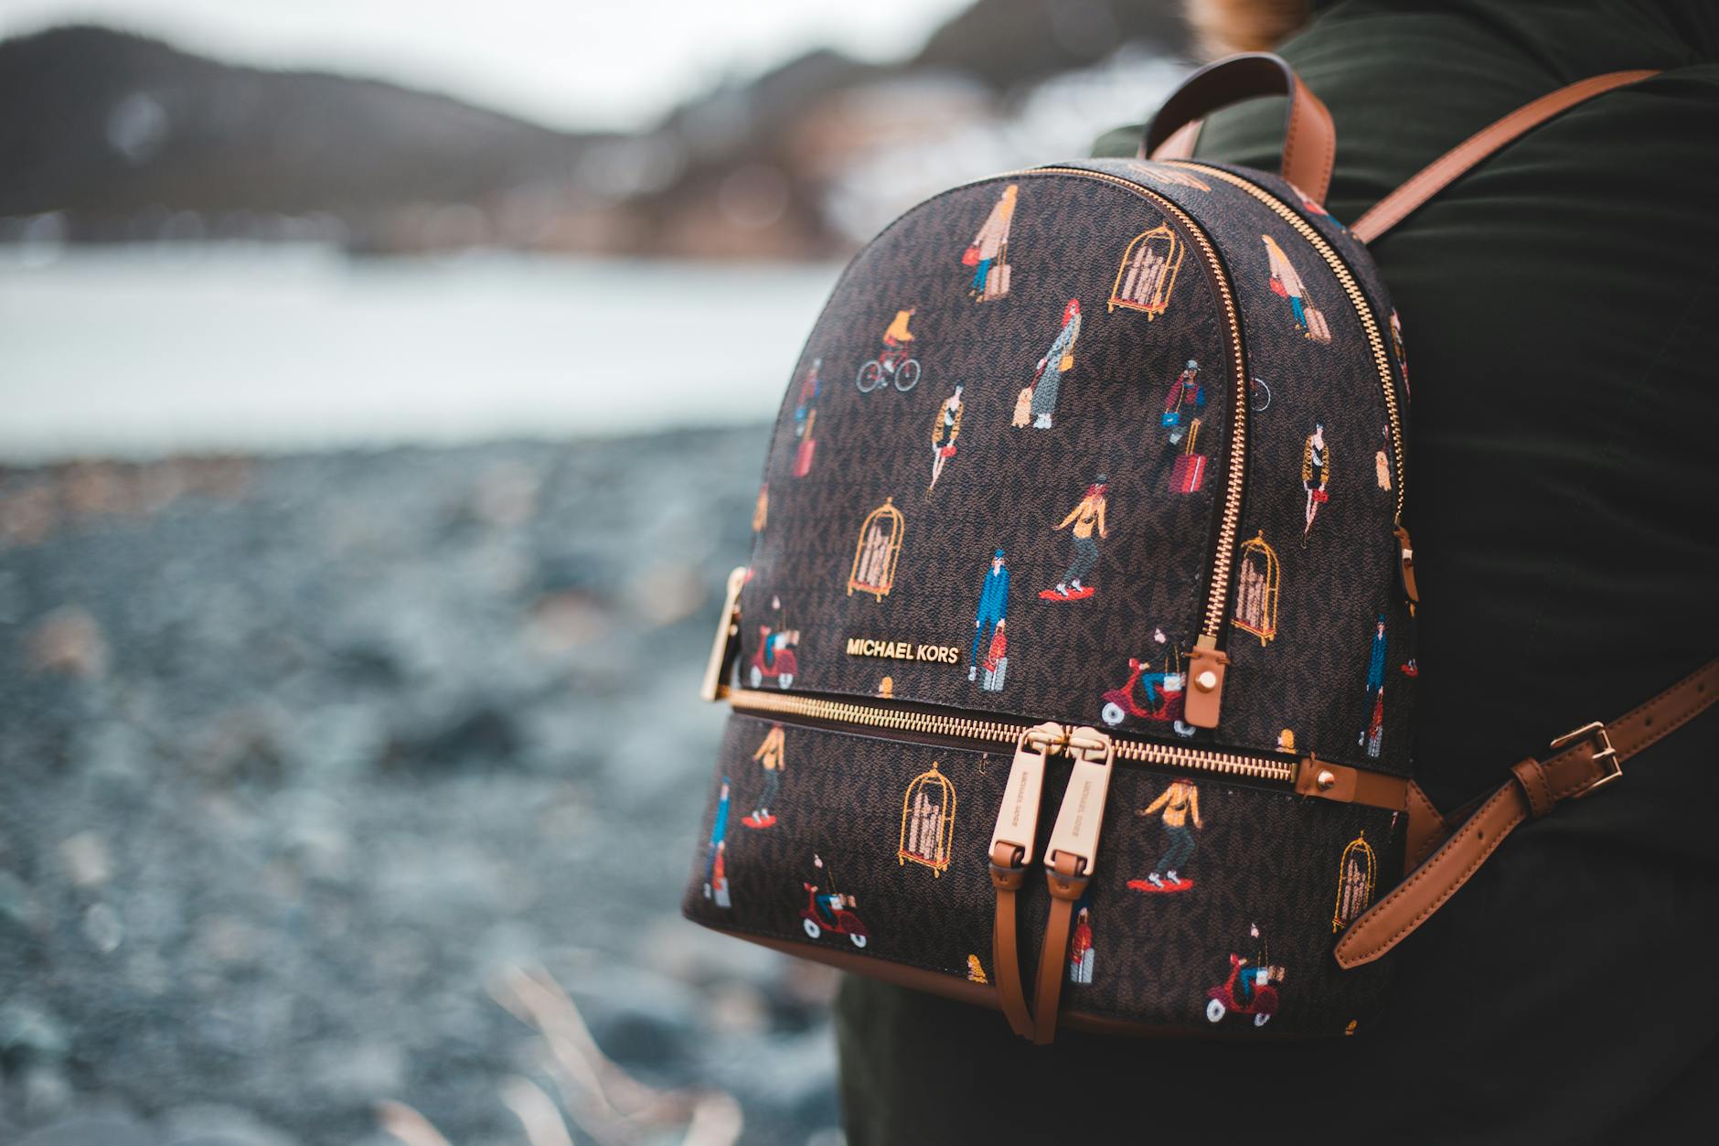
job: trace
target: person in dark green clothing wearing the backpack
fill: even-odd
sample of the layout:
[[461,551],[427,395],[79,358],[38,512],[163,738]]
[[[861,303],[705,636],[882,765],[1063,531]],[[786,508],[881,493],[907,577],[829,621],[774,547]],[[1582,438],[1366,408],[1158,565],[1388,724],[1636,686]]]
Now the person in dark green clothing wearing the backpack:
[[[1349,0],[1212,3],[1200,21],[1238,33],[1226,48],[1281,52],[1329,105],[1322,203],[1346,224],[1549,91],[1659,69],[1516,139],[1370,248],[1413,356],[1416,778],[1461,809],[1719,647],[1719,9]],[[1274,169],[1281,148],[1282,102],[1255,102],[1210,115],[1195,158]],[[1719,902],[1716,733],[1698,716],[1604,793],[1511,833],[1401,945],[1391,1003],[1355,1038],[1028,1046],[995,1014],[849,976],[847,1141],[1133,1139],[1145,1086],[1176,1096],[1152,1131],[1215,1143],[1705,1137],[1719,996],[1683,984]]]

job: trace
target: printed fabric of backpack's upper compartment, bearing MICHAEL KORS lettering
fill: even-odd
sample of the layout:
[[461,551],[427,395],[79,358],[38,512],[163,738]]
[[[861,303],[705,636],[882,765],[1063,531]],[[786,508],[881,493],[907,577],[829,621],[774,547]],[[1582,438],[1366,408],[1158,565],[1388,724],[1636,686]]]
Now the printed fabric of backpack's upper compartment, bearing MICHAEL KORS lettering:
[[897,700],[1406,774],[1401,473],[1348,294],[1212,174],[1080,167],[1195,215],[1236,298],[1250,425],[1220,726],[1179,716],[1236,399],[1224,310],[1176,219],[1054,172],[939,196],[842,275],[765,468],[743,683],[860,697],[887,678]]

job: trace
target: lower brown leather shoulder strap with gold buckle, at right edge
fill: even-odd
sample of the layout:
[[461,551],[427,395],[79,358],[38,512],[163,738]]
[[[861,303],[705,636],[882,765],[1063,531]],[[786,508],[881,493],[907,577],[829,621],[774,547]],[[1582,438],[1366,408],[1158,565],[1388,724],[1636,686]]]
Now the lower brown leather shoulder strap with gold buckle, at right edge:
[[1370,964],[1427,922],[1468,883],[1525,819],[1545,816],[1623,776],[1619,764],[1700,716],[1719,697],[1719,661],[1709,661],[1647,704],[1607,724],[1587,724],[1552,742],[1554,755],[1511,767],[1511,779],[1337,941],[1344,967]]

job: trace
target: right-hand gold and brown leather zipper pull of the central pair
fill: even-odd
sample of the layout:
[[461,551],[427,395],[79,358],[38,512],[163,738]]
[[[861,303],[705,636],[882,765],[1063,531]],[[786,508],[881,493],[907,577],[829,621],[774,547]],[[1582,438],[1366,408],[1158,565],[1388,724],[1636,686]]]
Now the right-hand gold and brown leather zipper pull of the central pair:
[[1038,952],[1038,991],[1033,1001],[1033,1041],[1040,1046],[1057,1032],[1057,998],[1069,967],[1074,903],[1092,883],[1098,829],[1104,828],[1104,805],[1110,792],[1110,764],[1116,761],[1116,745],[1097,728],[1071,731],[1064,750],[1074,757],[1074,771],[1069,773],[1069,786],[1062,793],[1062,807],[1057,809],[1057,823],[1050,828],[1045,850],[1050,921]]

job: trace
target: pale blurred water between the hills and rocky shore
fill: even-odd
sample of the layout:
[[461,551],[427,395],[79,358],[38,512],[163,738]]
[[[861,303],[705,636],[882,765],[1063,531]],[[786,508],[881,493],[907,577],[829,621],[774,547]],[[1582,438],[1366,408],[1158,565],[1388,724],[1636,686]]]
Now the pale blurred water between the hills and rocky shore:
[[136,248],[0,265],[0,458],[762,422],[832,265]]

